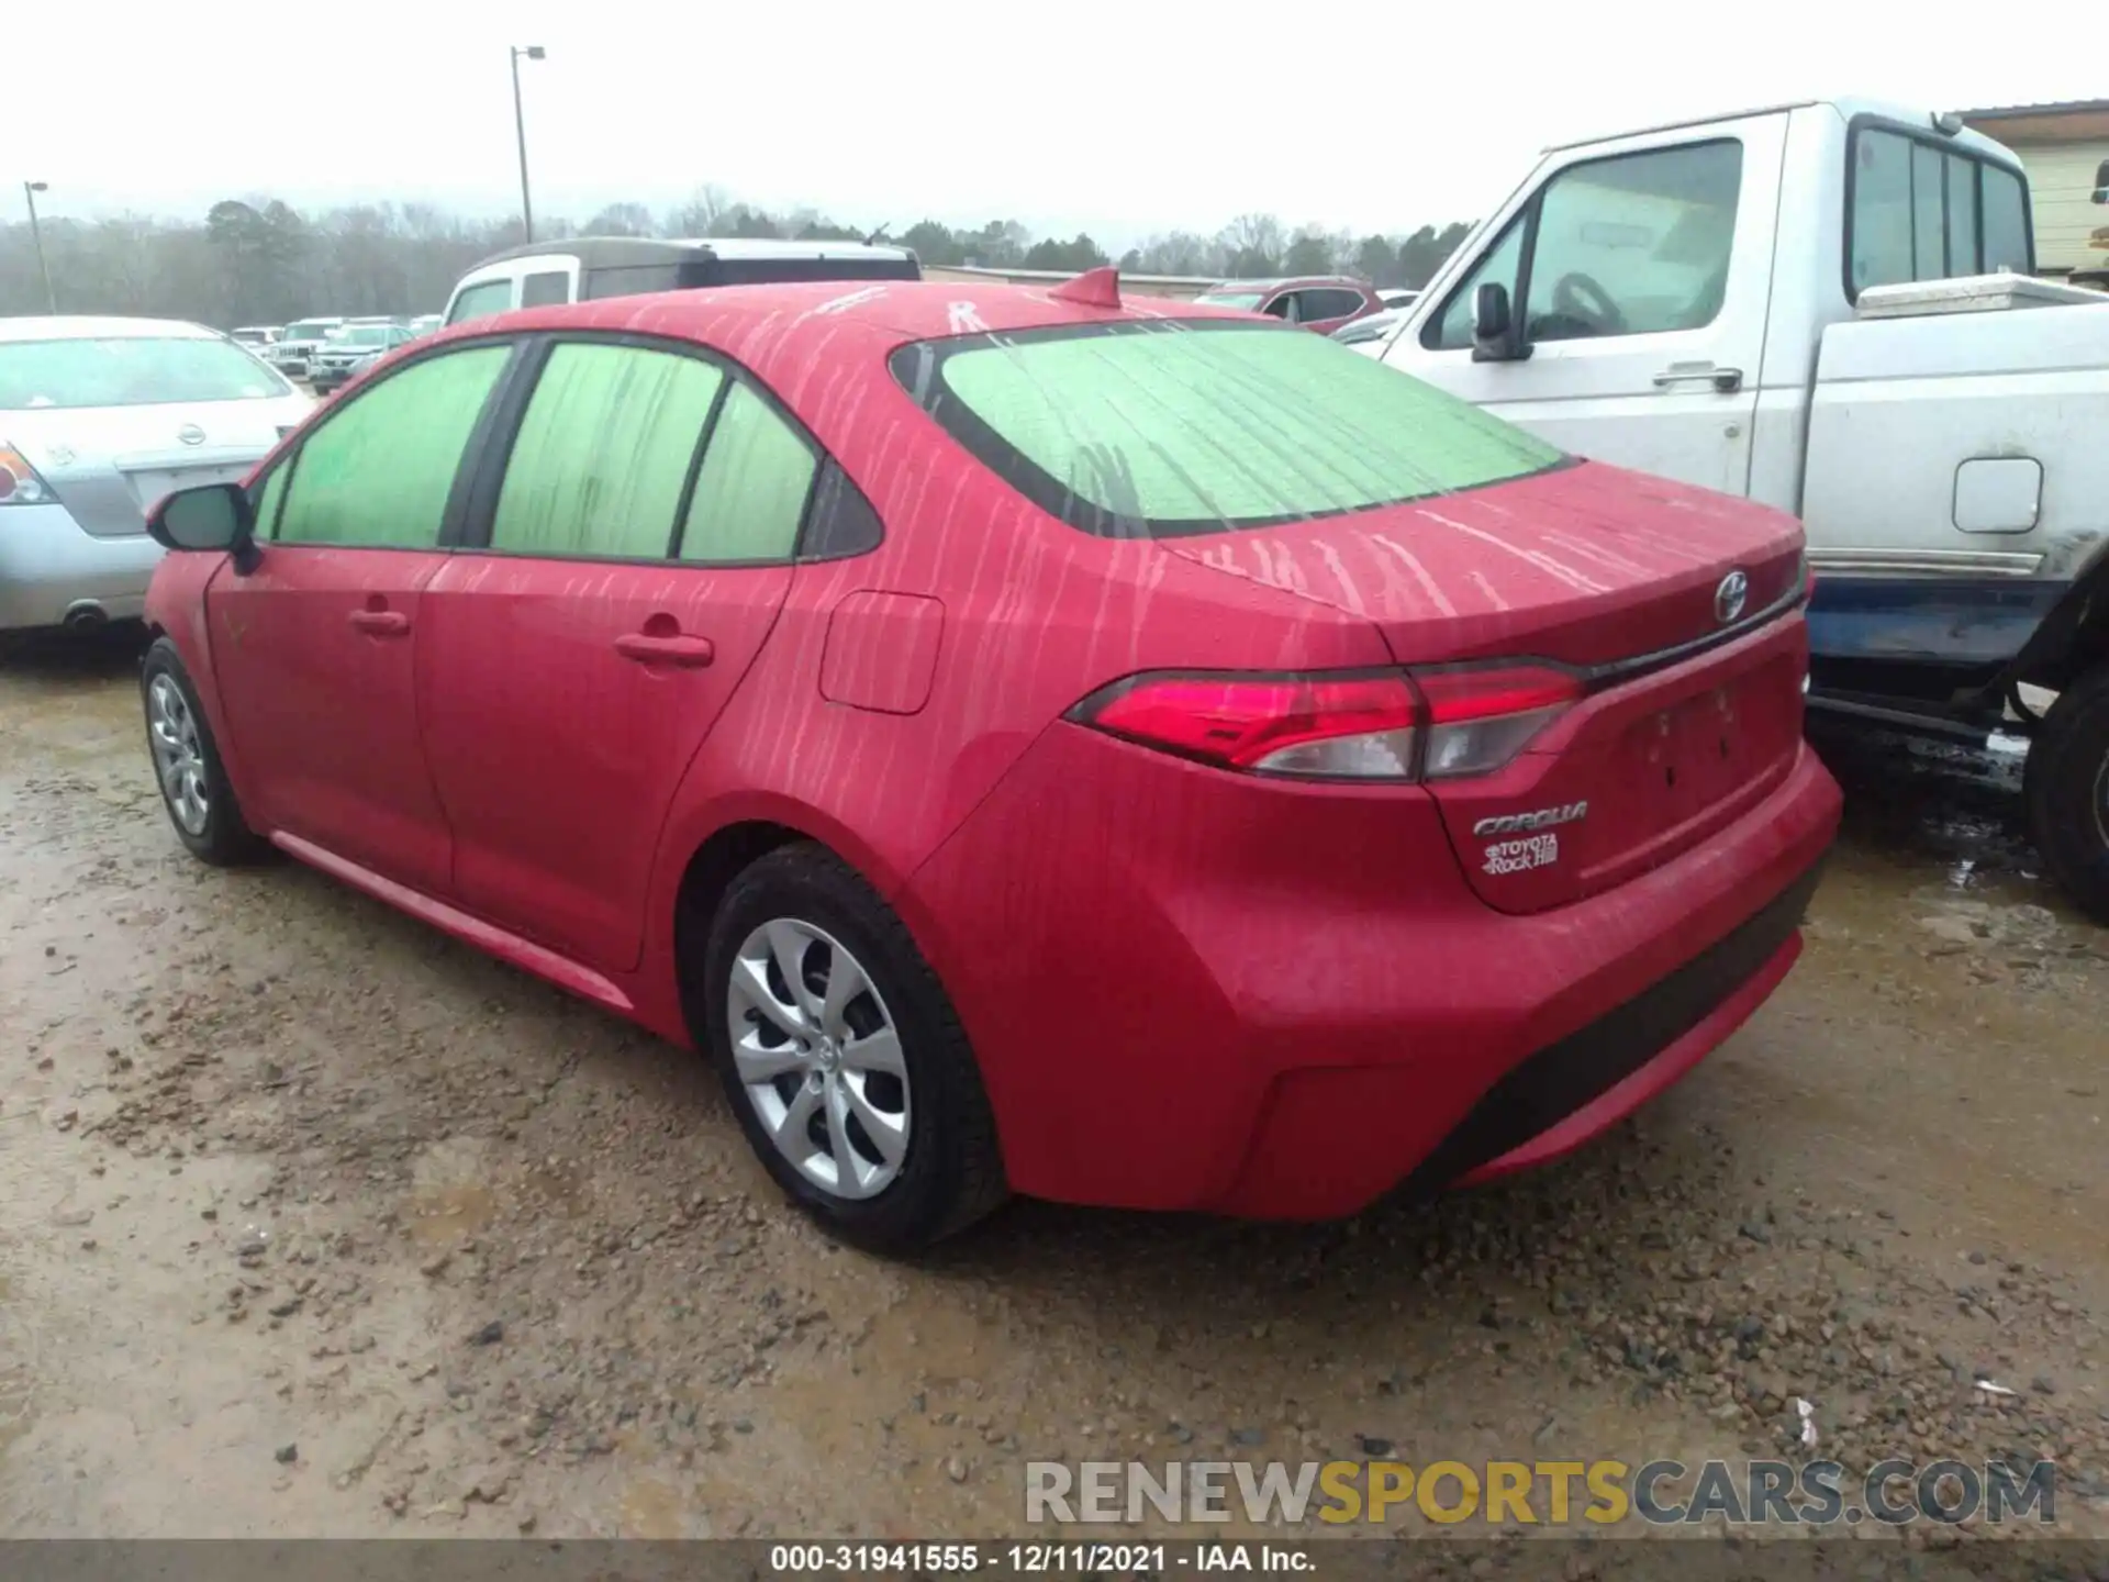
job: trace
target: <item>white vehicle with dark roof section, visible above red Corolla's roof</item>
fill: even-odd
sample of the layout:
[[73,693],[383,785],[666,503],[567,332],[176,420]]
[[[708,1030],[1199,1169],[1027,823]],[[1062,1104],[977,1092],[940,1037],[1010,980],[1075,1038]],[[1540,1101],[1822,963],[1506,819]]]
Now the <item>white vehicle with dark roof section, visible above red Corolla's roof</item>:
[[515,247],[477,264],[456,283],[447,300],[447,323],[460,325],[512,308],[550,308],[561,302],[694,291],[711,285],[920,278],[922,266],[915,253],[873,243],[574,236]]

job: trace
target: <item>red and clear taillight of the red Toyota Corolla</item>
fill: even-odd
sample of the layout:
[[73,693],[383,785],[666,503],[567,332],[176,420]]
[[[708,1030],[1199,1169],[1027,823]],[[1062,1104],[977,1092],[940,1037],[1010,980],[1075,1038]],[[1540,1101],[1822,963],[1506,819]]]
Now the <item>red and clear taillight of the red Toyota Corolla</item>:
[[1582,683],[1544,664],[1409,675],[1156,673],[1116,681],[1071,719],[1227,770],[1415,780],[1502,768]]

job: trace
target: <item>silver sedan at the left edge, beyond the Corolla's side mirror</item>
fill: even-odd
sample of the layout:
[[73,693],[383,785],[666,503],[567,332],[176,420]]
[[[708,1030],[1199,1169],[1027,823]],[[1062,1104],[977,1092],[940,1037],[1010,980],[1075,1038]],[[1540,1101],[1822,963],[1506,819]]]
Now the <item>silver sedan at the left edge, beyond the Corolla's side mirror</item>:
[[314,401],[173,319],[0,319],[0,633],[141,614],[146,513],[240,479]]

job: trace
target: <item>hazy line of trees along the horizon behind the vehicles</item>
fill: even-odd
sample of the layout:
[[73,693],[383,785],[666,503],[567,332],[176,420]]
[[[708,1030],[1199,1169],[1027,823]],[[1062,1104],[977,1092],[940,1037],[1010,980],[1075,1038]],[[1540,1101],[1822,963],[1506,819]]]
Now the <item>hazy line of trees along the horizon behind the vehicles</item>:
[[[1274,215],[1238,215],[1213,236],[1164,232],[1126,249],[1128,274],[1356,274],[1379,287],[1419,287],[1464,240],[1466,226],[1354,236]],[[146,314],[219,325],[283,325],[308,314],[439,312],[479,259],[521,243],[519,219],[470,219],[426,202],[382,202],[299,213],[278,198],[226,198],[202,219],[114,215],[42,217],[44,259],[59,312]],[[561,236],[753,236],[888,240],[924,264],[1086,270],[1114,257],[1088,234],[1033,236],[1012,219],[945,226],[920,219],[901,232],[865,232],[812,209],[770,213],[698,188],[654,213],[616,202],[584,224],[542,219],[538,240]],[[27,221],[0,226],[0,314],[44,312],[44,276]]]

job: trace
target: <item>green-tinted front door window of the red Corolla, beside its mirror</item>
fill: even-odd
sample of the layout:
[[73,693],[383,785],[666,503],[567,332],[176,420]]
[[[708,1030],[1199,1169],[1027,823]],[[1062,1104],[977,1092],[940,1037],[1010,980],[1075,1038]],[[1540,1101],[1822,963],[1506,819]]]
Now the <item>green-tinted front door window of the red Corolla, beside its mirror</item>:
[[510,346],[443,352],[396,369],[335,407],[299,445],[274,538],[285,544],[434,546],[468,435],[510,354]]

